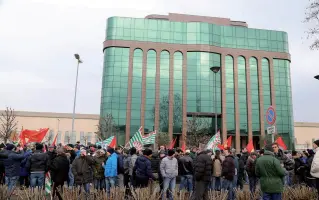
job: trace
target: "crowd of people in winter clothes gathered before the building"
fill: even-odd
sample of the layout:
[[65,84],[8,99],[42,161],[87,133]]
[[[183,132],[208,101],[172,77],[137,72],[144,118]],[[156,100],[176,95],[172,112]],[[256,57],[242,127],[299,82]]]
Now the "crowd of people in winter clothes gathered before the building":
[[178,190],[190,193],[194,200],[208,199],[209,190],[227,190],[228,199],[235,199],[235,189],[249,185],[253,194],[260,187],[264,200],[282,199],[283,187],[305,183],[319,188],[319,140],[314,150],[282,151],[273,143],[258,152],[242,149],[222,151],[166,149],[157,151],[123,147],[103,149],[101,146],[75,145],[46,146],[32,143],[23,147],[0,145],[0,183],[6,184],[14,195],[25,187],[44,188],[47,172],[51,174],[52,195],[62,199],[63,187],[77,187],[90,193],[111,188],[131,188],[157,185],[162,199],[173,199],[176,182]]

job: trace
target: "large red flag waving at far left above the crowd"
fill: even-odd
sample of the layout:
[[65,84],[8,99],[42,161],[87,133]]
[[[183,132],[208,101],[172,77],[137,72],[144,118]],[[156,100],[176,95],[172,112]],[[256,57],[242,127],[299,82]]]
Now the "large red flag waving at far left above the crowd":
[[29,142],[41,142],[47,134],[49,128],[41,128],[39,130],[24,129],[20,133],[20,141],[23,145]]

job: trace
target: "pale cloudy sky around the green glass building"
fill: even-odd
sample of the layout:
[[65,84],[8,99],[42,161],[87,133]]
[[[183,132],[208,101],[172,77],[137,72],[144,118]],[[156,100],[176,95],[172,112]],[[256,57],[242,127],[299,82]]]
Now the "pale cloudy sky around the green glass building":
[[228,17],[287,31],[295,121],[319,122],[318,51],[302,23],[306,0],[0,0],[0,109],[72,112],[76,61],[84,60],[77,112],[99,113],[102,42],[110,16],[169,12]]

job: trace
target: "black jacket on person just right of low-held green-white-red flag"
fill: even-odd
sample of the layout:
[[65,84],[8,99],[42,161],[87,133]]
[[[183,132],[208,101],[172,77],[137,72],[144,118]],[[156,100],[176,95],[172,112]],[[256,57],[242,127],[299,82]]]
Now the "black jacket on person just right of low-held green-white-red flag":
[[70,163],[66,155],[58,155],[49,161],[51,178],[55,183],[64,183],[68,179]]

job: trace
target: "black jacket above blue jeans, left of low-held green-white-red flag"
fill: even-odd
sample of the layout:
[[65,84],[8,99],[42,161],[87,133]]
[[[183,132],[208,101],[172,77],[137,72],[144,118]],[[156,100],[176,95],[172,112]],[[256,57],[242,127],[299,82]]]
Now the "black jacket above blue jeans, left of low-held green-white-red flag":
[[47,172],[48,171],[48,154],[41,150],[36,150],[29,158],[26,169],[29,172]]

